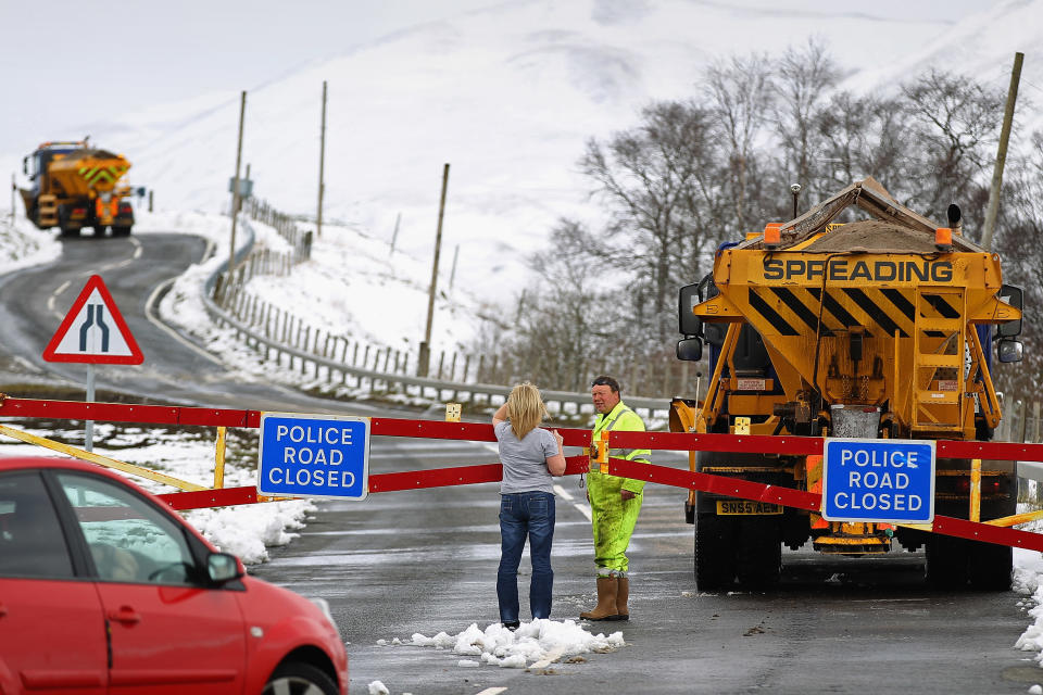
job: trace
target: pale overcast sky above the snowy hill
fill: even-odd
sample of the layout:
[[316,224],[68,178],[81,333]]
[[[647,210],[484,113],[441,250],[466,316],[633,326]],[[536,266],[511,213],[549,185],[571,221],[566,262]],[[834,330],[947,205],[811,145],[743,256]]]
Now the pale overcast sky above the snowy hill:
[[[700,1],[719,5],[726,0],[693,0]],[[738,1],[776,10],[837,7],[833,0]],[[955,22],[996,1],[875,0],[853,3],[852,12]],[[45,139],[83,137],[88,134],[68,129],[105,123],[121,112],[206,92],[250,90],[398,29],[495,4],[498,0],[131,0],[115,5],[0,0],[0,154],[28,153]],[[696,35],[693,27],[693,40]],[[755,47],[743,47],[737,37],[736,48]]]

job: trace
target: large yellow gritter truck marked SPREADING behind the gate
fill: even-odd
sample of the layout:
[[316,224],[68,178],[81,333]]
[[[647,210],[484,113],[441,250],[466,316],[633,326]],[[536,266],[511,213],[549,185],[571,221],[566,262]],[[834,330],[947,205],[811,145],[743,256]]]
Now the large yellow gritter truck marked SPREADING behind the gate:
[[[856,207],[868,218],[832,223]],[[678,357],[699,359],[707,344],[713,376],[703,401],[674,400],[670,429],[989,440],[1001,418],[992,355],[1021,358],[1014,340],[1020,309],[1021,291],[1003,283],[998,256],[962,236],[955,205],[950,227],[939,228],[867,178],[793,220],[722,244],[713,273],[681,289]],[[822,491],[821,456],[698,452],[691,467]],[[984,521],[1015,513],[1014,463],[981,462],[980,508],[972,509],[977,470],[968,459],[937,460],[934,514]],[[878,497],[865,501],[882,503]],[[887,504],[904,502],[895,495]],[[830,521],[694,491],[686,511],[695,525],[695,579],[703,590],[737,580],[776,583],[782,546],[797,549],[808,541],[819,553],[845,556],[923,546],[932,585],[1010,585],[1009,547],[915,525]]]

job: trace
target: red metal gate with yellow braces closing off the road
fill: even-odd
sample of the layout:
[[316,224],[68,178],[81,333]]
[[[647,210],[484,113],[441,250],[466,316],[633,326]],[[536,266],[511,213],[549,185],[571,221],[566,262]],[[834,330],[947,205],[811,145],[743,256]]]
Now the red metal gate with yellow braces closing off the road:
[[[261,424],[261,410],[229,408],[199,408],[160,405],[128,405],[118,403],[95,403],[74,401],[43,401],[33,399],[3,397],[0,401],[0,417],[5,418],[47,418],[52,420],[99,420],[109,422],[134,422],[139,425],[185,425],[210,426],[217,428],[216,454],[214,466],[214,486],[178,480],[148,468],[118,462],[93,454],[85,450],[55,442],[35,434],[20,431],[7,425],[0,425],[0,434],[27,443],[108,466],[128,475],[140,476],[149,480],[175,486],[180,492],[159,495],[174,509],[193,509],[202,507],[222,507],[240,504],[272,502],[291,497],[272,497],[257,493],[256,488],[247,485],[224,488],[224,442],[228,427],[257,428]],[[495,434],[491,425],[476,422],[454,422],[438,420],[412,420],[400,418],[369,418],[370,434],[374,437],[409,437],[417,439],[466,440],[475,442],[494,442]],[[646,482],[699,490],[731,497],[768,502],[819,513],[822,496],[817,492],[763,484],[739,480],[725,476],[692,472],[684,469],[641,464],[607,456],[610,442],[612,447],[649,448],[659,451],[719,451],[759,454],[820,455],[825,440],[816,437],[769,437],[737,434],[701,434],[682,432],[605,432],[604,440],[598,442],[593,455],[590,454],[591,432],[587,429],[558,429],[565,446],[582,447],[583,454],[566,457],[565,475],[587,472],[590,466],[600,466],[601,472],[633,478]],[[611,439],[610,439],[611,438]],[[1043,462],[1043,444],[1010,442],[976,442],[938,440],[937,453],[940,458],[995,459]],[[449,468],[432,468],[393,473],[372,473],[369,493],[419,490],[449,485],[465,485],[482,482],[497,482],[502,477],[499,463]],[[978,502],[972,492],[971,506]],[[941,533],[972,541],[982,541],[1011,547],[1022,547],[1043,552],[1043,534],[1009,528],[1043,518],[1043,510],[1020,514],[987,521],[968,521],[954,517],[935,515],[929,525],[902,525],[932,533]]]

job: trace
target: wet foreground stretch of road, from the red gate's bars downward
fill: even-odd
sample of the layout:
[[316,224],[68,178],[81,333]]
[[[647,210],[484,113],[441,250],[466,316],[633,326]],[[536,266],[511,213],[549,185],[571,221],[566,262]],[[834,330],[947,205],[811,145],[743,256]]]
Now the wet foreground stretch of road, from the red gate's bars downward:
[[[378,438],[370,470],[389,472],[495,459],[482,445]],[[593,606],[590,526],[562,481],[552,556],[552,618]],[[1032,619],[1015,593],[934,593],[921,553],[826,559],[783,553],[769,593],[702,594],[692,577],[692,527],[683,494],[646,486],[631,545],[627,646],[579,664],[526,671],[482,665],[430,647],[379,646],[419,632],[456,634],[498,619],[497,485],[323,502],[300,539],[253,571],[330,602],[350,642],[351,693],[380,680],[391,693],[470,694],[507,687],[541,693],[1025,693],[1043,670],[1013,645]],[[523,559],[526,571],[528,557]],[[527,573],[522,577],[523,616]]]

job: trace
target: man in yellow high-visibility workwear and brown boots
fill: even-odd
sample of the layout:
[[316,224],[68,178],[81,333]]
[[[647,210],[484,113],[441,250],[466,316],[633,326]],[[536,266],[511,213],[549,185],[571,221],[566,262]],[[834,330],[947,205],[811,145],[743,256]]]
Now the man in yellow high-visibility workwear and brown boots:
[[[612,377],[598,377],[590,387],[598,410],[592,433],[591,452],[602,432],[643,432],[644,421],[623,402],[619,383]],[[611,444],[610,439],[610,444]],[[608,456],[649,463],[648,448],[610,448]],[[644,481],[610,476],[591,465],[587,476],[587,498],[590,502],[594,532],[594,564],[598,566],[598,606],[579,614],[586,620],[628,620],[630,610],[630,561],[627,546],[641,511]]]

